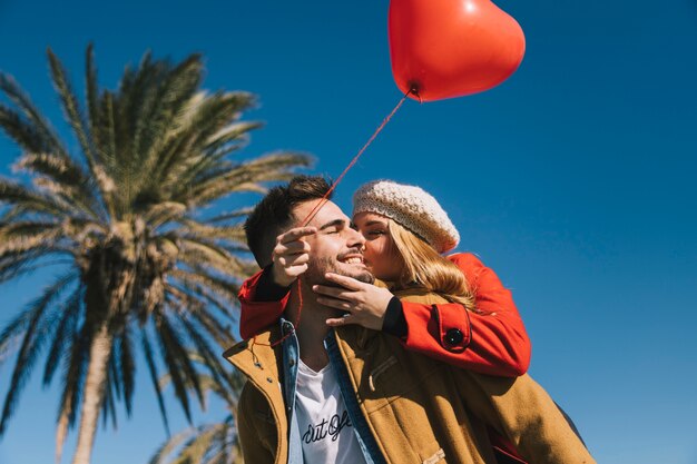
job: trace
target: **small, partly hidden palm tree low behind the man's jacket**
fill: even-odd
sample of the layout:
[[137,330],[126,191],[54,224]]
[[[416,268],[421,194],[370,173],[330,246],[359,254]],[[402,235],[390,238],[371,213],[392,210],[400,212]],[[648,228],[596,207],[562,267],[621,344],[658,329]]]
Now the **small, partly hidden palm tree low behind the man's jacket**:
[[[194,361],[204,359],[190,354]],[[187,428],[170,437],[153,456],[149,464],[243,464],[242,448],[237,435],[237,401],[245,383],[238,371],[229,371],[222,376],[223,382],[209,376],[200,376],[205,391],[223,399],[227,415],[222,422]],[[170,383],[163,376],[161,386]],[[189,386],[193,388],[193,385]]]

